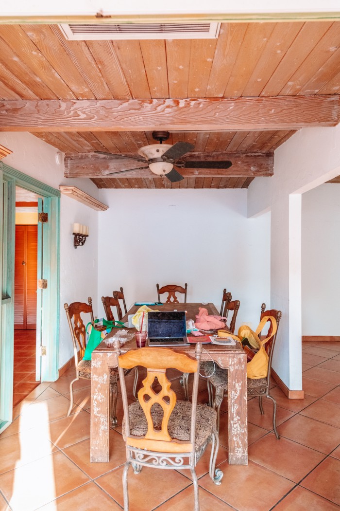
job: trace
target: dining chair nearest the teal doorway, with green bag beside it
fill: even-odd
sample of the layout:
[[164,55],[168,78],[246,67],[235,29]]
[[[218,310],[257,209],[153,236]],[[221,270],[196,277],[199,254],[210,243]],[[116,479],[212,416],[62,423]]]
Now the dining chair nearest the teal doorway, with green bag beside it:
[[[83,360],[86,349],[86,327],[81,314],[90,314],[90,321],[93,323],[92,298],[88,297],[88,304],[74,301],[70,305],[64,304],[68,325],[71,331],[73,343],[73,355],[75,364],[75,378],[70,383],[70,407],[67,415],[70,415],[73,408],[73,384],[80,378],[91,380],[91,360]],[[110,369],[110,425],[117,425],[117,378],[118,369]]]

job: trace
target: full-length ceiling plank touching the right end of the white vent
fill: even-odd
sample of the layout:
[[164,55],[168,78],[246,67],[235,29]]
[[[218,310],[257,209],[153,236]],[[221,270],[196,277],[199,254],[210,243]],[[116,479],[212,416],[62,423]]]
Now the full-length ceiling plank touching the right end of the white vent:
[[206,98],[222,98],[237,60],[248,23],[222,24],[206,87]]

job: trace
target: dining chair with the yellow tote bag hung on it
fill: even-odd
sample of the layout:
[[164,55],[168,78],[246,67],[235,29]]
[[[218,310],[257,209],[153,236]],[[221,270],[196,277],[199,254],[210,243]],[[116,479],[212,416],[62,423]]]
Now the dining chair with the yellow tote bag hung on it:
[[[248,396],[258,396],[258,405],[261,412],[261,415],[264,415],[264,409],[262,404],[262,399],[265,396],[273,402],[273,430],[276,438],[279,440],[279,434],[276,428],[276,400],[273,396],[270,395],[270,376],[272,370],[272,359],[275,347],[275,341],[277,336],[277,331],[279,327],[279,322],[282,316],[282,312],[276,309],[266,310],[266,304],[261,305],[261,313],[260,320],[265,316],[273,316],[276,319],[277,330],[275,335],[266,343],[266,352],[268,355],[268,370],[267,376],[265,378],[247,378],[247,394]],[[270,328],[268,330],[267,335],[271,335],[272,333],[272,324],[270,323]],[[202,369],[204,371],[205,376],[207,377],[208,384],[208,395],[209,395],[209,404],[213,406],[217,411],[217,429],[219,430],[219,417],[220,417],[220,407],[223,401],[223,398],[228,394],[228,370],[222,369],[217,364],[213,364],[213,362],[204,362],[202,364]],[[213,399],[213,389],[215,388],[215,399]]]

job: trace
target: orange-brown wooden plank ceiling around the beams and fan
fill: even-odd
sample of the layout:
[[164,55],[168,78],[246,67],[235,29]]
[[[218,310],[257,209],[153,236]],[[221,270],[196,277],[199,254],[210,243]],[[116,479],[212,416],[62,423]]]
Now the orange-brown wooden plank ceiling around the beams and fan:
[[[36,105],[43,101],[64,101],[66,106],[72,104],[77,108],[74,102],[92,100],[98,102],[100,110],[103,101],[108,100],[136,99],[150,104],[150,100],[173,98],[252,98],[256,109],[255,98],[266,102],[281,97],[278,115],[289,104],[285,103],[285,97],[334,96],[339,92],[340,21],[228,23],[221,25],[217,39],[121,41],[67,41],[57,25],[0,25],[0,98],[3,100],[0,111],[5,112],[7,108],[15,111],[18,100],[25,100],[28,111],[30,105],[41,111],[45,103],[41,103],[41,109]],[[212,105],[209,129],[200,129],[202,125],[195,120],[195,129],[191,126],[189,130],[185,127],[171,130],[166,143],[185,141],[194,145],[196,153],[226,153],[216,156],[217,159],[229,159],[230,153],[236,158],[238,152],[265,153],[272,158],[273,151],[297,129],[293,122],[293,103],[285,112],[292,125],[286,123],[284,129],[271,129],[275,122],[270,117],[266,123],[251,123],[254,107],[247,110],[245,106],[243,114],[249,112],[245,128],[229,126],[228,129],[225,122],[225,129],[214,130],[218,102]],[[317,110],[308,107],[308,121],[327,125]],[[2,131],[8,129],[2,124],[5,117],[0,116]],[[140,147],[155,143],[152,130],[167,129],[167,125],[157,125],[156,115],[149,129],[143,126],[143,130],[136,131],[124,125],[124,121],[113,130],[100,125],[91,130],[82,129],[81,125],[72,129],[66,121],[64,127],[63,123],[54,126],[53,119],[51,114],[47,124],[50,128],[46,131],[24,124],[20,129],[19,122],[11,129],[31,131],[66,153],[66,161],[69,153],[81,153],[85,158],[84,169],[84,153],[107,151],[136,155]],[[334,119],[332,125],[339,121],[338,109]],[[189,120],[190,109],[188,125]],[[41,126],[45,124],[42,122]],[[204,154],[201,158],[204,156],[213,157]],[[69,158],[74,159],[74,154]],[[89,158],[89,167],[96,169],[95,157]],[[98,188],[247,188],[255,174],[246,161],[250,160],[245,158],[244,174],[233,165],[223,173],[216,169],[196,170],[177,183],[155,176],[149,170],[140,174],[135,171],[133,177],[123,174],[124,177],[109,178],[98,167],[93,175],[85,171],[83,175],[91,178]],[[101,177],[94,177],[98,175]]]

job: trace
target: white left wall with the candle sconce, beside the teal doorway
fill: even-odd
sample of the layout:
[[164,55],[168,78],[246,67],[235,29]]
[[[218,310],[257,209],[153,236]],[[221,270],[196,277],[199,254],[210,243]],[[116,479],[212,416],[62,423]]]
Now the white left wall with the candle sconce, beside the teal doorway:
[[[56,161],[57,149],[30,133],[0,133],[0,144],[13,151],[3,159],[6,165],[23,172],[50,187],[60,184],[79,187],[92,196],[98,189],[89,179],[66,179],[63,165]],[[59,367],[72,356],[70,332],[64,303],[86,301],[90,295],[97,302],[97,233],[98,213],[91,208],[61,196],[60,223],[60,344]],[[90,236],[84,247],[73,248],[73,222],[89,225]]]

